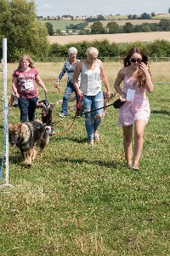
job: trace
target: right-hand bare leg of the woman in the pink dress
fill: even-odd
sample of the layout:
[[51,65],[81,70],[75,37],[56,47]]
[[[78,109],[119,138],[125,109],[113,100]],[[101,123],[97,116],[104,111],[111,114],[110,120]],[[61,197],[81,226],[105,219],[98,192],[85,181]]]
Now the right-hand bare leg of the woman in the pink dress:
[[146,122],[144,120],[137,120],[134,124],[134,165],[139,164],[140,156],[142,153],[144,143],[144,127]]

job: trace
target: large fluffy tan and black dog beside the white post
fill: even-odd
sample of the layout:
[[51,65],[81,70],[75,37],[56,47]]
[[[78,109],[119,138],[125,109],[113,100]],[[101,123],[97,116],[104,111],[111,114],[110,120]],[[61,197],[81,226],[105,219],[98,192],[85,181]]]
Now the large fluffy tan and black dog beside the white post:
[[31,166],[31,161],[37,155],[37,147],[40,148],[42,157],[43,150],[49,143],[48,126],[42,125],[38,120],[8,124],[8,139],[11,146],[20,148],[26,165]]

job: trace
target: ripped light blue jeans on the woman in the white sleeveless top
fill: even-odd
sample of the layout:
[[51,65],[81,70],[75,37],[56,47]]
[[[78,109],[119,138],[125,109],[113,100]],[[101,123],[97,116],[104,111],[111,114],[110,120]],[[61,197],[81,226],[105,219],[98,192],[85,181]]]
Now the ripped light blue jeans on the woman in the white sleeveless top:
[[[85,126],[88,134],[88,141],[94,139],[94,131],[98,130],[99,124],[104,116],[104,96],[100,91],[96,96],[82,96],[82,108],[85,112]],[[91,113],[86,113],[91,110],[102,108]],[[102,117],[98,117],[97,115]]]

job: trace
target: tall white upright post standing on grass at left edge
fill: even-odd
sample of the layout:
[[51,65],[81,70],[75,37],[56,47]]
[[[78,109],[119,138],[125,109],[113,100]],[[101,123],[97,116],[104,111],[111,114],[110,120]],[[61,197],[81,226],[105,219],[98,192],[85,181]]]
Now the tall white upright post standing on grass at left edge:
[[8,183],[8,98],[7,98],[7,38],[3,38],[3,126],[5,132],[5,183],[0,186],[13,187]]

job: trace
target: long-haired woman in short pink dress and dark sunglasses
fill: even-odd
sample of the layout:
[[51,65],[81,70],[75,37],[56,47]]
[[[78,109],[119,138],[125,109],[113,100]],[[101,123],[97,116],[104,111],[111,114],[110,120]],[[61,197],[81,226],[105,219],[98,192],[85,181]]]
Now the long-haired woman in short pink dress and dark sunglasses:
[[[120,84],[123,81],[123,87]],[[150,118],[150,104],[145,92],[153,90],[148,67],[148,56],[142,49],[133,47],[124,59],[124,67],[115,81],[115,90],[125,102],[119,109],[118,123],[122,126],[123,146],[127,166],[139,169],[143,148],[144,127]],[[134,148],[132,162],[132,140],[134,126]]]

